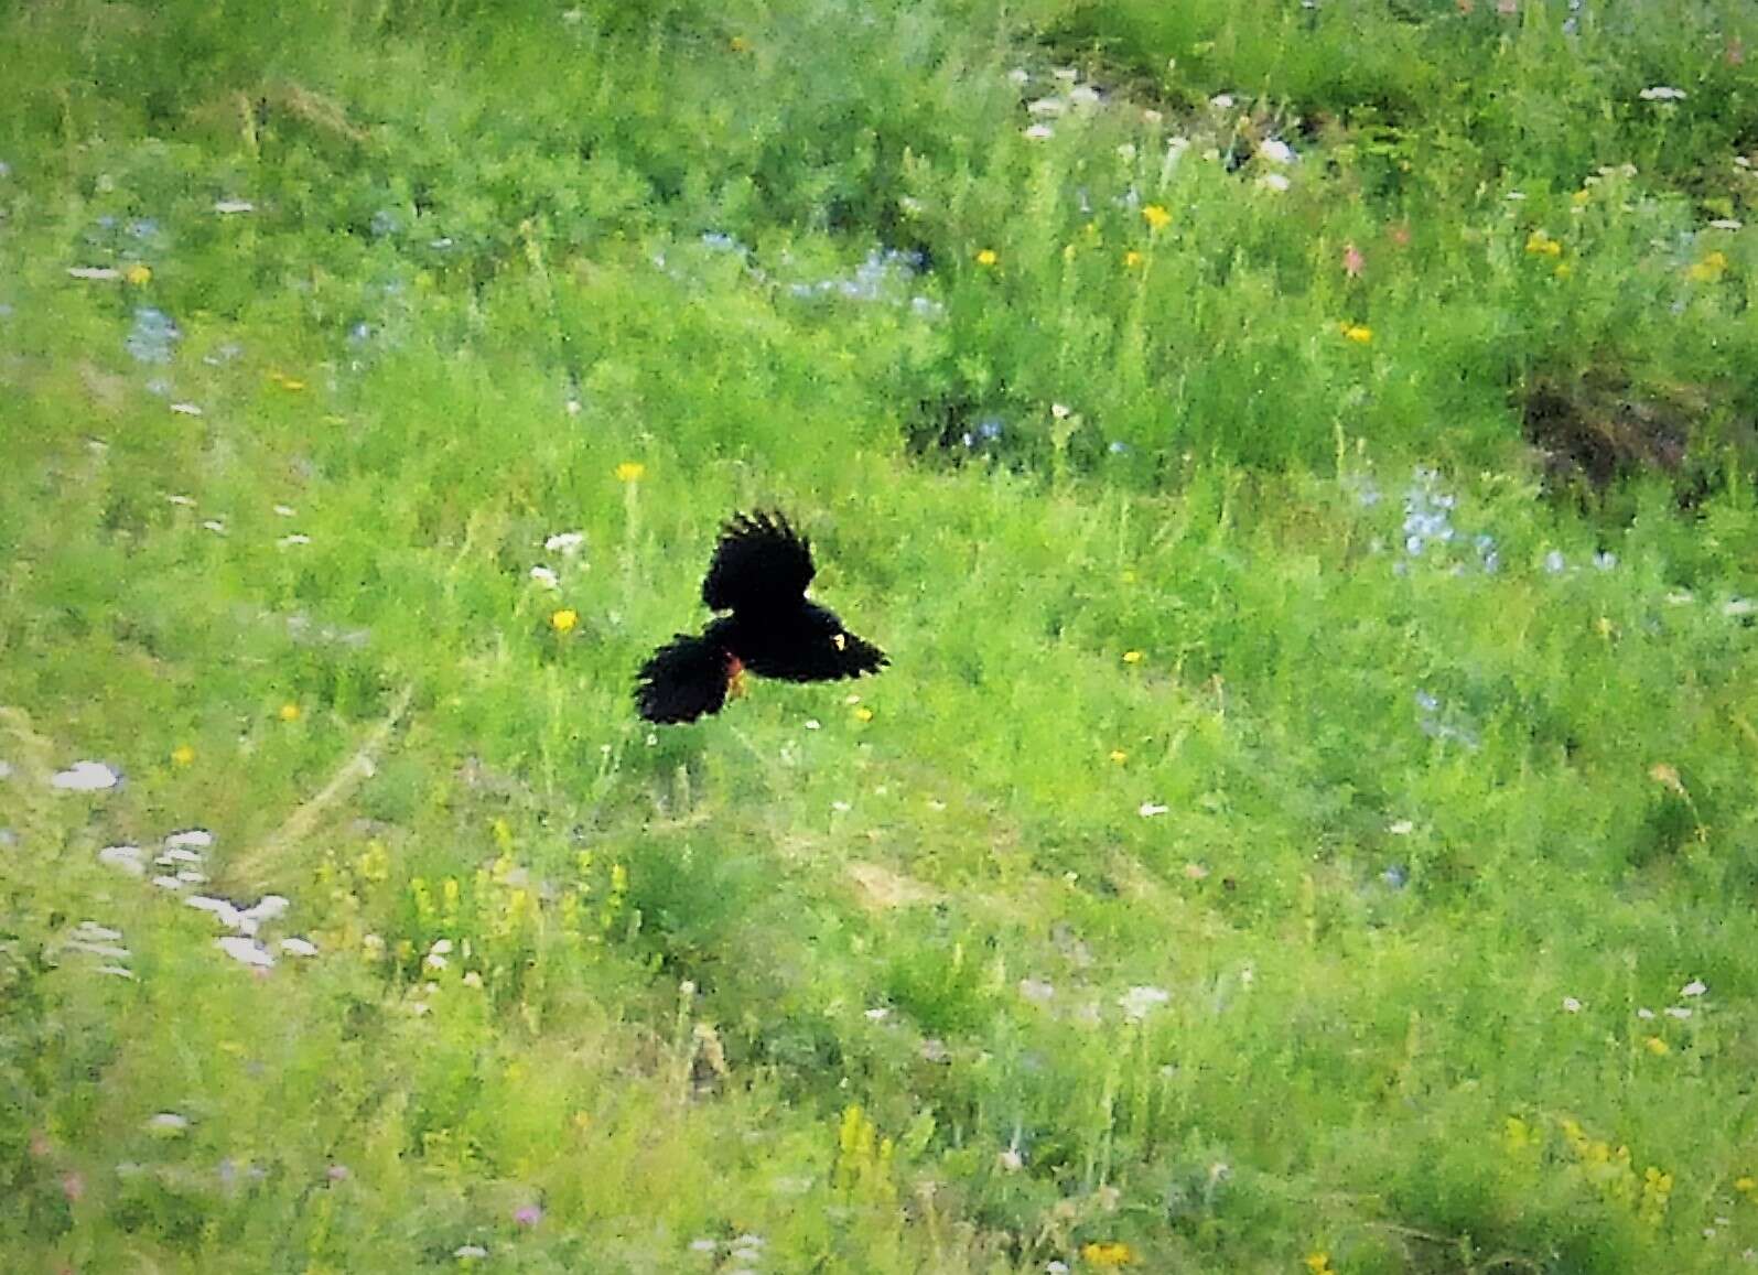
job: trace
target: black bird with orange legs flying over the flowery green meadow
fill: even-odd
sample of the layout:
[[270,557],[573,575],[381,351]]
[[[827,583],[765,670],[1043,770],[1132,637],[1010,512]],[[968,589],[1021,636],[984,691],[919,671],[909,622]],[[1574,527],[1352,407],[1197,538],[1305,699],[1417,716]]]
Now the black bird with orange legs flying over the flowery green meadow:
[[805,596],[812,547],[781,514],[735,514],[714,547],[701,582],[714,619],[701,637],[679,633],[652,652],[635,682],[647,721],[694,721],[744,693],[744,674],[786,682],[828,682],[875,674],[884,651],[865,642],[835,612]]

